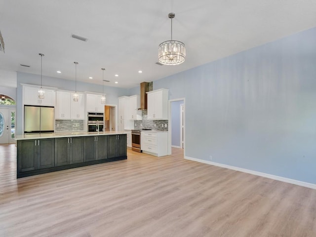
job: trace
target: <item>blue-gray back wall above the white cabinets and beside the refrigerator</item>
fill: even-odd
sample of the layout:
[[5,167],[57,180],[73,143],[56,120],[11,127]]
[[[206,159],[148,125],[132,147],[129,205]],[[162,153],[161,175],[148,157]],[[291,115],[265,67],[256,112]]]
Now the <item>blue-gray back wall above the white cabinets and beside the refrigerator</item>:
[[[27,74],[27,73],[17,73],[17,99],[16,99],[16,124],[17,124],[17,134],[23,134],[22,126],[22,85],[23,84],[33,84],[40,85],[40,75]],[[75,90],[75,81],[66,80],[60,78],[52,77],[42,77],[43,87],[56,87],[61,90]],[[77,81],[77,91],[78,92],[97,92],[102,93],[102,86],[97,84],[90,84],[85,82]],[[107,104],[118,105],[118,97],[129,93],[128,89],[104,86],[104,93],[106,94]]]

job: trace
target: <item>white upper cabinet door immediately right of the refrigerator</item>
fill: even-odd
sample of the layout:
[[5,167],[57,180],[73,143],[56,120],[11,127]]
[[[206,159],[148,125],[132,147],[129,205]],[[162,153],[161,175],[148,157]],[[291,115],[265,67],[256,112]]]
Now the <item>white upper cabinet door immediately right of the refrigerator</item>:
[[56,91],[56,119],[70,119],[71,93],[68,91]]

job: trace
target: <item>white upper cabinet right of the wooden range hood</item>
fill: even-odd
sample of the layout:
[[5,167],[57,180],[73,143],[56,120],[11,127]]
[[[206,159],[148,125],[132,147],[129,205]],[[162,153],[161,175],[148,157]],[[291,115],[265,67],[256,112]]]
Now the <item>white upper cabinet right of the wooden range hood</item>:
[[168,89],[158,89],[147,93],[147,119],[168,119]]

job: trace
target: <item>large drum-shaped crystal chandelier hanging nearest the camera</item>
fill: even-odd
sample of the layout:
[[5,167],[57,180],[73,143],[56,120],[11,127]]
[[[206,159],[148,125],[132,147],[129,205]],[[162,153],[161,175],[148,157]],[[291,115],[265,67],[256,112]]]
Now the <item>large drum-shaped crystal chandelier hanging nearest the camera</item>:
[[158,61],[164,65],[177,65],[183,63],[186,57],[186,47],[183,42],[172,40],[172,19],[174,13],[169,13],[171,19],[171,40],[164,41],[158,46]]

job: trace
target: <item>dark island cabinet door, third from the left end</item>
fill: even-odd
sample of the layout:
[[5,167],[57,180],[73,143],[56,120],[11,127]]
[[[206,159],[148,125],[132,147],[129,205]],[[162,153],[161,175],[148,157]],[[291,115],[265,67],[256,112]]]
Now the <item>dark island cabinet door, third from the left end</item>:
[[70,164],[69,144],[67,137],[55,138],[55,166]]

